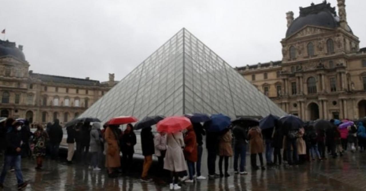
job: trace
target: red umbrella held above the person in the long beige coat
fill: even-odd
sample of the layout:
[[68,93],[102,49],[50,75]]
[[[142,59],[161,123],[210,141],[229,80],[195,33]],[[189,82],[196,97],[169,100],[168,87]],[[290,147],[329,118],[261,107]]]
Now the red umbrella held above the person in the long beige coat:
[[156,130],[158,132],[175,133],[186,129],[190,125],[192,125],[191,120],[187,117],[173,116],[159,121]]

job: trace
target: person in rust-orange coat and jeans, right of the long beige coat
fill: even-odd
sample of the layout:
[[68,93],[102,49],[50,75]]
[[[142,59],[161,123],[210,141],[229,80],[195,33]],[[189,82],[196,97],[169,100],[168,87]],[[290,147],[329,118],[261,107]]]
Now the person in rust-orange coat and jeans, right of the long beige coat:
[[194,163],[197,162],[197,139],[193,126],[187,128],[186,136],[184,136],[184,158],[187,161],[189,179],[185,180],[186,183],[194,182]]

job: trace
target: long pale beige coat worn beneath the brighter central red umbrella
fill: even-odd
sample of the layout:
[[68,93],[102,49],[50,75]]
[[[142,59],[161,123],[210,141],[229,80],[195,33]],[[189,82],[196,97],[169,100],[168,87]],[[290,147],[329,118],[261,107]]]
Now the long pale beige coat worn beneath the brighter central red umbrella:
[[168,133],[167,153],[165,154],[164,169],[173,172],[182,172],[187,170],[182,147],[184,147],[182,132],[173,134]]

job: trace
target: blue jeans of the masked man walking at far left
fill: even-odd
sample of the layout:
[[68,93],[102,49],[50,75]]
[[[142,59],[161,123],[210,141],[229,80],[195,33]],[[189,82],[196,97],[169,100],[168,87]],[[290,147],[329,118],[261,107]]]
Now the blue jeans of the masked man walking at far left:
[[11,165],[14,165],[15,176],[16,176],[16,180],[18,181],[18,184],[24,183],[22,171],[20,170],[21,159],[22,159],[22,157],[20,155],[5,155],[3,171],[1,172],[1,175],[0,175],[1,184],[4,183],[6,173],[10,169]]

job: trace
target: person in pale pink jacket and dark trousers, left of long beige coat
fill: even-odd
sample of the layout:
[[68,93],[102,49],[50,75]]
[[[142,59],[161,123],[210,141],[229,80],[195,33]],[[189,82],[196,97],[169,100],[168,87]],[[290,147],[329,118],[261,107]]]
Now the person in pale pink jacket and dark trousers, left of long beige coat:
[[[154,137],[155,156],[158,157],[158,176],[164,176],[164,158],[167,152],[167,134],[165,132],[156,133]],[[163,180],[161,180],[163,181]],[[161,182],[163,183],[163,182]]]

